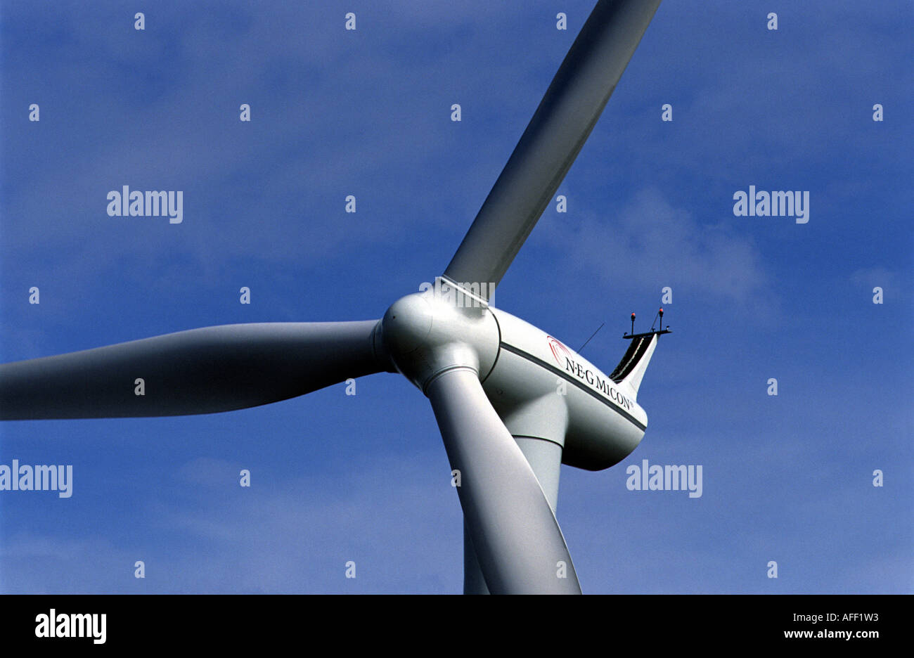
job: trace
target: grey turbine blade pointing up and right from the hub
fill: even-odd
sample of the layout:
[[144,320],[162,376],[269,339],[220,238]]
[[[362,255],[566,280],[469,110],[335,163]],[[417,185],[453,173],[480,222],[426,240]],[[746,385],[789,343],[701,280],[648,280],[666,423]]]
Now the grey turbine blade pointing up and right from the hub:
[[600,0],[594,7],[445,277],[458,284],[502,280],[587,141],[658,5],[660,0]]

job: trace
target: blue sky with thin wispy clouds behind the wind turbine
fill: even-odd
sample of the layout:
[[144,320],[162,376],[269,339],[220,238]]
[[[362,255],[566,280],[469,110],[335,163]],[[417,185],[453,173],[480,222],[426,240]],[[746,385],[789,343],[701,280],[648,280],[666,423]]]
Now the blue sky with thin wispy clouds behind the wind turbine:
[[[0,360],[379,318],[433,281],[592,3],[384,5],[0,3]],[[667,0],[559,188],[569,212],[499,286],[573,347],[605,322],[583,355],[607,372],[629,313],[646,328],[673,289],[642,444],[561,473],[585,592],[914,589],[912,17]],[[124,185],[183,190],[184,221],[109,217]],[[808,190],[809,222],[735,217],[749,185]],[[0,591],[459,592],[428,401],[394,375],[356,390],[3,423],[0,464],[72,464],[74,485],[0,492]],[[703,495],[628,491],[643,459],[702,465]]]

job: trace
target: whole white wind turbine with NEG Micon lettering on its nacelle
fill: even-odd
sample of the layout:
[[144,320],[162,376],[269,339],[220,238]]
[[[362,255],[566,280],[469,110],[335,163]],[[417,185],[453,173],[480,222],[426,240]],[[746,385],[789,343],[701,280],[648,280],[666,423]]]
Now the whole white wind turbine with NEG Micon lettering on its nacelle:
[[0,419],[214,413],[399,372],[429,398],[459,484],[464,592],[580,593],[555,516],[559,467],[600,470],[634,450],[638,389],[667,332],[632,331],[607,376],[490,298],[659,4],[600,0],[430,290],[380,320],[227,324],[5,364]]

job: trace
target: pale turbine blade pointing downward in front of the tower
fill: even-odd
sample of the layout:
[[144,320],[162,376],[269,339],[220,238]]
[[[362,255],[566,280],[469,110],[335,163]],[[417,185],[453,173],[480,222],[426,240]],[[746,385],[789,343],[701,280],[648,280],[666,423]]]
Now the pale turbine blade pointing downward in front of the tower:
[[468,368],[426,389],[466,528],[493,594],[579,594],[565,537],[524,454]]

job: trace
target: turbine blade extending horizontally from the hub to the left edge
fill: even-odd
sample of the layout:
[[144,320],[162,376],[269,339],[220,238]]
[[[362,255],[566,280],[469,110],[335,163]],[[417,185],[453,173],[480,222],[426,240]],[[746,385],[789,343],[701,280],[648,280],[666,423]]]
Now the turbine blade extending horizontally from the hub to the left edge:
[[185,416],[293,398],[391,370],[375,324],[225,324],[4,364],[0,419]]

